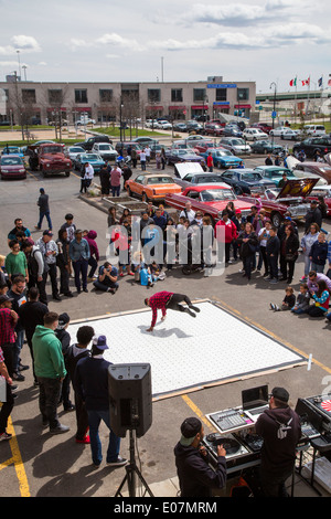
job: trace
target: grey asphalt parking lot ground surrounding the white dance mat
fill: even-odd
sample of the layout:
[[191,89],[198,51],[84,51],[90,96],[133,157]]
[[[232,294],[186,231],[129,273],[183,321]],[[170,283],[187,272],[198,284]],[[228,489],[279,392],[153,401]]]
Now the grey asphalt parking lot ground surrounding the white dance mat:
[[[264,158],[250,157],[245,160],[246,167],[264,163]],[[154,165],[151,165],[154,171]],[[138,170],[139,171],[139,170]],[[137,172],[138,172],[137,171]],[[172,172],[172,168],[169,168]],[[105,258],[107,239],[107,216],[103,211],[92,206],[78,198],[79,176],[70,178],[40,178],[39,173],[30,172],[26,180],[1,182],[1,254],[7,254],[7,234],[13,227],[17,216],[35,232],[39,189],[43,187],[50,195],[53,229],[60,229],[64,214],[73,212],[74,220],[81,229],[96,230],[97,242],[102,258]],[[331,222],[324,227],[331,232]],[[300,235],[302,225],[299,224]],[[295,351],[306,358],[312,356],[311,368],[297,368],[256,373],[250,379],[235,380],[231,383],[180,394],[153,403],[153,421],[149,431],[138,441],[139,460],[145,479],[148,484],[157,484],[175,476],[173,446],[179,439],[179,427],[189,415],[201,416],[205,430],[209,422],[205,415],[210,412],[238,405],[241,391],[261,383],[284,385],[290,393],[290,404],[295,406],[298,398],[320,394],[330,383],[331,359],[329,352],[330,325],[324,319],[296,317],[289,313],[273,314],[269,303],[280,303],[284,297],[284,284],[269,286],[264,283],[259,273],[254,273],[252,283],[247,285],[238,273],[239,263],[228,265],[221,277],[203,277],[200,274],[182,276],[174,269],[167,275],[161,289],[188,294],[191,299],[213,299],[222,306],[236,313],[249,324],[270,332],[280,341],[289,345]],[[303,261],[299,258],[296,265],[293,287],[299,289],[299,279],[303,274]],[[73,283],[73,279],[72,282]],[[158,292],[154,286],[152,292]],[[47,289],[50,293],[50,287]],[[151,294],[151,292],[150,292]],[[87,319],[105,314],[137,310],[143,307],[147,296],[145,287],[135,285],[125,277],[115,296],[89,290],[88,294],[76,295],[72,299],[50,301],[50,309],[57,313],[66,311],[72,320]],[[170,321],[169,317],[169,321]],[[212,324],[211,324],[212,326]],[[120,340],[120,338],[114,338]],[[243,339],[242,339],[243,340]],[[160,349],[167,345],[160,341]],[[111,345],[110,345],[111,348]],[[135,345],[132,345],[135,348]],[[232,348],[232,345],[228,345]],[[188,351],[188,354],[190,352]],[[196,362],[203,362],[206,357],[213,357],[222,363],[216,350],[209,348],[205,338],[201,337],[201,357]],[[173,362],[177,360],[173,359]],[[30,363],[26,346],[23,348],[23,362]],[[185,366],[182,367],[185,369]],[[125,470],[109,469],[102,465],[99,469],[92,467],[89,446],[77,445],[74,441],[75,413],[64,413],[60,407],[61,421],[71,426],[71,431],[58,436],[50,436],[42,428],[38,406],[38,389],[33,386],[32,370],[24,371],[25,381],[19,382],[18,398],[11,415],[14,442],[0,445],[0,496],[1,497],[111,497],[118,488]],[[106,446],[106,430],[102,428],[103,444]],[[128,456],[128,438],[121,442],[121,455]]]

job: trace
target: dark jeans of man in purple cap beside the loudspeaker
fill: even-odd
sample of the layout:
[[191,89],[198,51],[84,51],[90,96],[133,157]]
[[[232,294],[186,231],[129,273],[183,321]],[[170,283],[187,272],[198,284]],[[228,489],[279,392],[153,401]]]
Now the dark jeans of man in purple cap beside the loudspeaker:
[[89,425],[89,442],[92,451],[92,460],[95,465],[100,465],[103,460],[103,448],[99,437],[99,425],[100,422],[105,422],[109,430],[109,442],[107,448],[107,463],[116,462],[119,454],[120,438],[113,433],[110,428],[110,416],[109,411],[94,411],[87,410],[88,425]]

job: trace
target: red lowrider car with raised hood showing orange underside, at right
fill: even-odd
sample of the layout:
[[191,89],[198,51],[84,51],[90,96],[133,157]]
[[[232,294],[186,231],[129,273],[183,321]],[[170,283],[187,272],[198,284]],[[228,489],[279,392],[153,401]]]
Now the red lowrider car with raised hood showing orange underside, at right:
[[308,195],[318,181],[318,178],[288,180],[280,189],[270,188],[266,189],[261,194],[256,194],[255,197],[244,194],[238,197],[238,199],[246,200],[253,205],[259,201],[267,216],[276,227],[279,227],[286,212],[293,220],[305,219],[310,208]]

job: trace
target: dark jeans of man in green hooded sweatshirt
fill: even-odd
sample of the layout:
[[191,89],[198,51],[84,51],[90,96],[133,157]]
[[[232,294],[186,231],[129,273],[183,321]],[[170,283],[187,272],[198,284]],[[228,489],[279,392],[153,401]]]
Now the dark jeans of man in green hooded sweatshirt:
[[39,382],[39,409],[43,421],[49,422],[50,430],[60,425],[57,417],[57,404],[61,395],[62,383],[60,379],[36,377]]

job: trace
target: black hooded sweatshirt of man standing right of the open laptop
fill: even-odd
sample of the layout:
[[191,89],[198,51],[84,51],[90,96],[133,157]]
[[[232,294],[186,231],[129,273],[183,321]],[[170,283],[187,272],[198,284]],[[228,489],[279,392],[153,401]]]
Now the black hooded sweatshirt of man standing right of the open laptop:
[[255,430],[264,438],[261,468],[274,476],[291,472],[296,460],[296,446],[301,437],[298,414],[288,405],[268,409],[259,415]]

